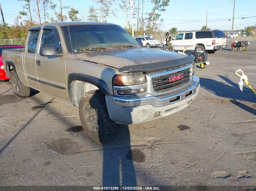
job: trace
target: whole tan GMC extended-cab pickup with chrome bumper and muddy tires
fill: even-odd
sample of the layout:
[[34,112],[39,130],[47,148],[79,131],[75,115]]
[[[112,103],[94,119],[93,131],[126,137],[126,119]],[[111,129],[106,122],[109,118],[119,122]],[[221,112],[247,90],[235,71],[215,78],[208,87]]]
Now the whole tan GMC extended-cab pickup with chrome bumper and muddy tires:
[[116,123],[168,116],[197,96],[194,56],[143,48],[110,23],[42,24],[28,31],[25,49],[4,50],[16,97],[31,88],[79,107],[85,134],[110,140]]

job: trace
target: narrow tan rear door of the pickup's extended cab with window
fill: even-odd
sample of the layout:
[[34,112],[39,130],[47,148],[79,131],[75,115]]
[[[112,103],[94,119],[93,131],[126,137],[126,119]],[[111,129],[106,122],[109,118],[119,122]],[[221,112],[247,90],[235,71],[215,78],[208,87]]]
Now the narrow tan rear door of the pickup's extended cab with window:
[[24,68],[25,75],[27,77],[28,83],[32,88],[41,91],[40,86],[37,82],[37,74],[35,68],[35,60],[38,49],[38,37],[40,33],[40,28],[29,31],[28,34],[28,45],[25,47],[24,55]]

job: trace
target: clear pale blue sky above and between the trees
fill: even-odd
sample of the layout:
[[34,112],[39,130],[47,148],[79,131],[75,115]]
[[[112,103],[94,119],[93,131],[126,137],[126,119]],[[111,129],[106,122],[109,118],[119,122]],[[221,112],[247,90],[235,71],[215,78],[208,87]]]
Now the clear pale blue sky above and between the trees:
[[[59,0],[52,0],[58,6]],[[117,9],[116,17],[109,15],[107,22],[115,23],[122,27],[125,26],[125,18],[118,7],[118,0],[116,5],[113,5],[113,9]],[[133,0],[134,4],[138,6],[138,0]],[[36,9],[35,0],[31,0],[32,9]],[[140,0],[140,3],[142,0]],[[19,11],[24,10],[22,5],[24,1],[18,0],[0,0],[5,22],[9,25],[14,24],[14,19],[19,14]],[[78,18],[87,21],[89,5],[97,6],[92,0],[62,0],[62,6],[70,6],[79,11]],[[140,4],[140,8],[142,4]],[[147,12],[150,12],[153,5],[150,0],[144,0],[144,18],[146,18]],[[219,30],[231,30],[232,18],[233,18],[234,0],[183,0],[174,1],[170,0],[169,5],[166,7],[166,11],[160,12],[160,18],[163,18],[163,22],[159,25],[163,31],[168,31],[172,27],[177,27],[178,30],[200,30],[203,25],[206,25],[206,11],[208,11],[208,27],[211,29]],[[234,30],[244,29],[247,26],[255,26],[256,24],[256,0],[236,0],[235,2],[235,14],[234,14]],[[28,12],[28,11],[27,11]],[[32,13],[33,18],[37,20],[36,12]],[[53,12],[49,11],[50,15]],[[68,15],[68,10],[63,10],[63,14]],[[142,9],[139,11],[139,17],[141,17]],[[43,11],[41,14],[43,15]],[[244,19],[242,19],[244,18]],[[41,16],[42,22],[44,21]],[[228,21],[231,19],[230,21]],[[129,17],[131,21],[131,17]],[[2,22],[2,17],[0,19]],[[137,15],[134,16],[135,29],[137,27]]]

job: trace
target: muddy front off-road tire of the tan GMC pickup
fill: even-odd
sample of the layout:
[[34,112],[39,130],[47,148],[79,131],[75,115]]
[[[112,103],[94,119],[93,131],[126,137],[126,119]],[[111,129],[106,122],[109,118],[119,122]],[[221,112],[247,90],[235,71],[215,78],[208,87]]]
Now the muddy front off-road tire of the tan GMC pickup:
[[[97,121],[98,132],[93,132],[88,125],[89,117],[86,108],[90,105],[91,111],[96,110],[95,121]],[[88,109],[88,108],[87,108]],[[79,101],[79,116],[85,134],[93,142],[102,144],[108,142],[117,133],[117,124],[109,118],[105,94],[99,90],[93,90],[85,93]]]

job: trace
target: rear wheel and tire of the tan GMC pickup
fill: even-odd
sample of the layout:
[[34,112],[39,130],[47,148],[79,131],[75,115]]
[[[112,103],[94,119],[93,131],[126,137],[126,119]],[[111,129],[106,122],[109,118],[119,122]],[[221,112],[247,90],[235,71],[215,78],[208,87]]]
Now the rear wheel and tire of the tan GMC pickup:
[[10,72],[10,82],[11,82],[12,91],[15,97],[19,99],[19,98],[26,98],[30,96],[30,87],[25,86],[21,83],[17,73],[14,70]]

